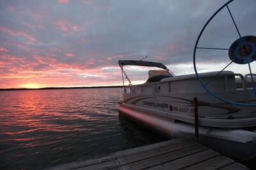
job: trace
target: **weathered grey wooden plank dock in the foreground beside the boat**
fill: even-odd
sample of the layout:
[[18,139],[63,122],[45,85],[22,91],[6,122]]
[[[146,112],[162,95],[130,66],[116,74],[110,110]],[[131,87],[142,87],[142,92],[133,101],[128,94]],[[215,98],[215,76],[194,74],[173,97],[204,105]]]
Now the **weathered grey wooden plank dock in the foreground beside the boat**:
[[188,139],[115,152],[104,157],[72,162],[52,169],[248,169],[220,153]]

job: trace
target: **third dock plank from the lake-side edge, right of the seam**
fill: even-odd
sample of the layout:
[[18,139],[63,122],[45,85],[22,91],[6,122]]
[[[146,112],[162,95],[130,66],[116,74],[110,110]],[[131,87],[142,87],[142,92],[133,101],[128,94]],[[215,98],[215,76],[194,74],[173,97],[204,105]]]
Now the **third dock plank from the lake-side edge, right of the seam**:
[[[211,159],[212,157],[217,157],[220,155],[218,152],[214,152],[212,150],[204,150],[202,152],[195,153],[193,155],[189,155],[186,157],[182,157],[180,159],[176,159],[170,162],[166,162],[159,166],[150,167],[150,170],[157,169],[183,169],[184,167],[189,167],[198,162],[202,162],[207,159]],[[189,167],[190,168],[190,167]]]

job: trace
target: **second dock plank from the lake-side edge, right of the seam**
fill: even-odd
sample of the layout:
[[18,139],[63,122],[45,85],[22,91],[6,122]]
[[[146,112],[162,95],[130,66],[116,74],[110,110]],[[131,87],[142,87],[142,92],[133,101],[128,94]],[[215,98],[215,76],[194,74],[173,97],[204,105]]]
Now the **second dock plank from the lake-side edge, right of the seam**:
[[163,155],[159,155],[156,157],[151,157],[149,159],[140,160],[137,162],[133,162],[131,164],[125,164],[122,166],[122,169],[145,169],[153,166],[157,166],[159,164],[163,164],[165,162],[169,162],[171,160],[179,159],[180,157],[185,157],[187,155],[191,155],[196,152],[201,152],[206,150],[202,145],[194,145],[188,148],[184,148],[181,150],[177,150],[170,153],[165,153]]

